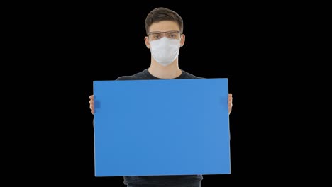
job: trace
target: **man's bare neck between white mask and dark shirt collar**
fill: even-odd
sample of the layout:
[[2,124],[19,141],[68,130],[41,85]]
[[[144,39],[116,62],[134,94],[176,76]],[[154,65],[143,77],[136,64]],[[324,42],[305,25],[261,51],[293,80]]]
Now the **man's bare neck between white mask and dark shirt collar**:
[[175,60],[175,62],[172,62],[172,64],[169,64],[166,67],[152,60],[148,71],[154,77],[160,79],[175,79],[182,74],[181,69],[179,69],[179,63],[177,60]]

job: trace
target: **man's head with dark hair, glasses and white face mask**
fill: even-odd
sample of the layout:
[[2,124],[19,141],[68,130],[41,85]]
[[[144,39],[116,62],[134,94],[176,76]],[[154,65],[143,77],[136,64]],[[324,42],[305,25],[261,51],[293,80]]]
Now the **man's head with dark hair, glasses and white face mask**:
[[145,45],[151,50],[153,62],[167,66],[177,61],[179,47],[184,45],[181,16],[168,8],[155,8],[145,19]]

